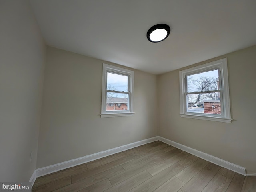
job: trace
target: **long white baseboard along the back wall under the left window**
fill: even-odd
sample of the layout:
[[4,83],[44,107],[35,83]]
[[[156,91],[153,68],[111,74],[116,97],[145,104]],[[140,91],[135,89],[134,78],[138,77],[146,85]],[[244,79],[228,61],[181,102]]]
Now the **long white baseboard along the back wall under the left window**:
[[128,150],[128,149],[132,149],[134,147],[138,147],[140,145],[151,143],[153,141],[158,141],[158,136],[152,137],[152,138],[149,138],[149,139],[144,139],[142,141],[137,141],[137,142],[134,142],[134,143],[130,143],[130,144],[127,144],[127,145],[122,145],[120,147],[116,147],[116,148],[113,148],[113,149],[108,149],[106,151],[101,151],[101,152],[94,153],[94,154],[91,154],[91,155],[86,155],[84,157],[79,157],[79,158],[72,159],[72,160],[69,160],[69,161],[64,161],[64,162],[57,163],[57,164],[54,164],[54,165],[50,165],[50,166],[47,166],[47,167],[38,168],[36,170],[36,177],[40,177],[40,176],[44,176],[46,174],[57,172],[59,170],[65,169],[65,168],[74,167],[76,165],[80,165],[80,164],[83,164],[83,163],[87,163],[89,161],[100,159],[102,157],[106,157],[108,155],[119,153],[121,151],[125,151],[125,150]]

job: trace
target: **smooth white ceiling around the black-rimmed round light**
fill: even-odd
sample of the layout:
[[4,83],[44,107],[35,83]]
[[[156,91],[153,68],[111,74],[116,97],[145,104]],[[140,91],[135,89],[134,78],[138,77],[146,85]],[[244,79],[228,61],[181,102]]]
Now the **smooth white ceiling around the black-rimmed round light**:
[[[30,0],[52,47],[161,74],[256,45],[256,0]],[[150,27],[169,37],[151,43]]]

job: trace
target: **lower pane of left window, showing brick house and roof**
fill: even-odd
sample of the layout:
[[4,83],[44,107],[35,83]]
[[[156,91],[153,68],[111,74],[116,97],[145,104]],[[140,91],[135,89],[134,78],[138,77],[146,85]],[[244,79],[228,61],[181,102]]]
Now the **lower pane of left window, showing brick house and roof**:
[[106,111],[127,111],[129,94],[107,92]]

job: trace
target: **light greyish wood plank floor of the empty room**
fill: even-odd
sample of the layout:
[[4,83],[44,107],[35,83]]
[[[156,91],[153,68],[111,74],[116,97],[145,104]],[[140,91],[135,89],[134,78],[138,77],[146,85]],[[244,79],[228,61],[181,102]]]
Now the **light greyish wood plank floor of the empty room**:
[[32,192],[256,192],[245,177],[155,141],[36,179]]

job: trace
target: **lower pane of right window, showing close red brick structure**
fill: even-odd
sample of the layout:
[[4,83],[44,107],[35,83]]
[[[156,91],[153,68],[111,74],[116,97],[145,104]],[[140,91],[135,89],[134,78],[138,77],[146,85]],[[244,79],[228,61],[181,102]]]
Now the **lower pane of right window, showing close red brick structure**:
[[220,92],[188,94],[187,112],[221,114]]

